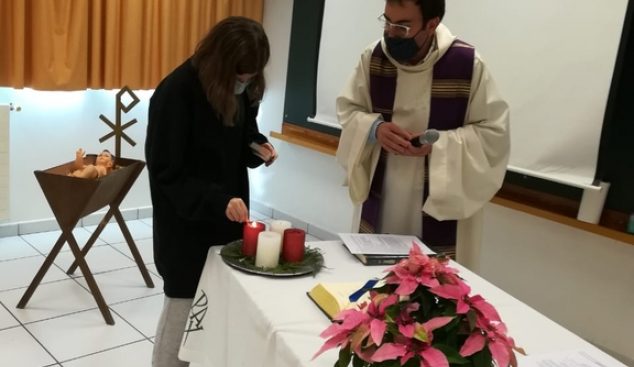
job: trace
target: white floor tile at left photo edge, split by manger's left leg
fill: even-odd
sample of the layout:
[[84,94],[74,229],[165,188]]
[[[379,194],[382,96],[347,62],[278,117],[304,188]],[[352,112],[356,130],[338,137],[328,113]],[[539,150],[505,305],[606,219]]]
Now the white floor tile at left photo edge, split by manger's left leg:
[[[35,256],[0,262],[0,292],[28,287],[44,260],[44,256]],[[63,271],[52,265],[41,284],[68,278]]]

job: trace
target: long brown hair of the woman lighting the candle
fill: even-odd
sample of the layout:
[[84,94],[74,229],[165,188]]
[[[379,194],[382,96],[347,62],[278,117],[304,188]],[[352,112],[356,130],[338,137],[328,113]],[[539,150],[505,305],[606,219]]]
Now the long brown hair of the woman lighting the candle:
[[263,70],[269,61],[269,40],[262,25],[245,17],[229,17],[216,24],[196,47],[192,65],[207,100],[222,122],[232,126],[238,114],[234,88],[239,74],[255,74],[247,88],[249,100],[259,103],[266,83]]

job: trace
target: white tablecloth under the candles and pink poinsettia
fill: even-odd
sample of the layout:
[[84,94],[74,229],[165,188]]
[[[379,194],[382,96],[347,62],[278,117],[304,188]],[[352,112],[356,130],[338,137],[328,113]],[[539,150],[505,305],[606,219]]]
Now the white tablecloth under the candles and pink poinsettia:
[[[383,267],[364,266],[341,242],[309,244],[324,252],[326,266],[316,277],[265,278],[224,264],[219,249],[209,251],[179,357],[208,367],[332,367],[337,351],[316,360],[329,320],[307,297],[318,283],[363,282],[382,276]],[[591,344],[457,263],[452,267],[473,292],[491,302],[516,344],[527,353],[588,348]],[[539,264],[535,264],[539,271]],[[548,297],[548,295],[544,295]],[[574,305],[562,305],[574,307]],[[204,316],[204,317],[203,317]],[[196,320],[202,319],[202,322]]]

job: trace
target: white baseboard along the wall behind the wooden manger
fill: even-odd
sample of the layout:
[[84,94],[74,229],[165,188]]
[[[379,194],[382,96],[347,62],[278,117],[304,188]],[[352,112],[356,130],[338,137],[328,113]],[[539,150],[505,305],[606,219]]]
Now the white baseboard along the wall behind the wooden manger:
[[[106,212],[106,210],[102,210],[85,216],[84,218],[82,218],[81,221],[79,221],[77,227],[89,227],[98,225],[99,222],[103,219],[104,215],[106,215]],[[121,210],[121,215],[126,221],[152,218],[152,207],[145,206],[140,208],[124,209]],[[110,219],[109,223],[115,221],[116,219],[113,217],[112,219]],[[0,237],[21,236],[26,234],[52,232],[58,230],[59,225],[54,218],[5,223],[0,224]]]

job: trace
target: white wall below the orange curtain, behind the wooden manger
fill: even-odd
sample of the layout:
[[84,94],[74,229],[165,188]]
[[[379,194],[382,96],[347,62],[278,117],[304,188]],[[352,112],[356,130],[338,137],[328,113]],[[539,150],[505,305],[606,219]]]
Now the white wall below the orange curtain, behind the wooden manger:
[[[104,114],[115,121],[117,91],[42,92],[30,89],[0,88],[0,104],[12,102],[22,111],[11,112],[11,207],[10,223],[54,218],[33,171],[43,170],[75,159],[75,151],[87,153],[109,149],[114,153],[114,140],[99,143],[110,128],[100,119]],[[136,118],[138,122],[126,133],[137,145],[122,142],[122,156],[144,159],[147,125],[148,91],[135,92],[141,102],[122,115],[123,123]],[[121,208],[151,205],[144,170]]]

